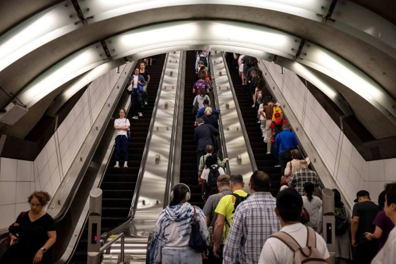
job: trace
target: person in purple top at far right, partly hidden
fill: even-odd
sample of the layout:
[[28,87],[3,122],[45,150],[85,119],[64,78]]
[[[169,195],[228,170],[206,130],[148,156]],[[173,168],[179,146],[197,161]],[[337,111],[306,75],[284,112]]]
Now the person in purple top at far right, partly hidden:
[[394,227],[390,218],[385,214],[385,191],[382,191],[381,194],[379,194],[378,205],[381,211],[379,211],[373,222],[373,224],[375,224],[375,231],[374,233],[366,232],[365,234],[368,240],[378,239],[378,251],[380,251],[384,246],[386,239],[388,239],[390,231]]

